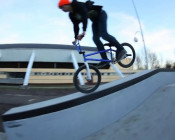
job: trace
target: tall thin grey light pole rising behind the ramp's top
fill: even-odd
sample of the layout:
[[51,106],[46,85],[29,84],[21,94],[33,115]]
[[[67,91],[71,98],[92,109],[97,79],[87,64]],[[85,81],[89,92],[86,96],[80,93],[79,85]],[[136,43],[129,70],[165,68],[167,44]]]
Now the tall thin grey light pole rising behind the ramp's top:
[[146,50],[146,45],[145,45],[143,30],[142,30],[142,26],[141,26],[139,14],[138,14],[138,12],[137,12],[137,8],[136,8],[136,6],[135,6],[134,0],[131,0],[131,1],[132,1],[133,6],[134,6],[134,10],[135,10],[135,13],[136,13],[136,16],[137,16],[137,20],[138,20],[138,23],[139,23],[140,33],[141,33],[141,36],[142,36],[142,41],[143,41],[143,46],[144,46],[144,52],[145,52],[146,69],[148,69],[148,55],[147,55],[147,50]]

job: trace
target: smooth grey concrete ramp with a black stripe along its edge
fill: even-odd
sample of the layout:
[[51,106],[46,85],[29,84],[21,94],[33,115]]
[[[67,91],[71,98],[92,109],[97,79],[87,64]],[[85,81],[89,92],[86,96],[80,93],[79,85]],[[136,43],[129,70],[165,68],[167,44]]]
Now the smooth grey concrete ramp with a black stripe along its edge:
[[13,108],[2,117],[9,140],[79,140],[113,124],[159,88],[175,83],[175,71],[143,71],[107,83],[92,94],[74,93]]

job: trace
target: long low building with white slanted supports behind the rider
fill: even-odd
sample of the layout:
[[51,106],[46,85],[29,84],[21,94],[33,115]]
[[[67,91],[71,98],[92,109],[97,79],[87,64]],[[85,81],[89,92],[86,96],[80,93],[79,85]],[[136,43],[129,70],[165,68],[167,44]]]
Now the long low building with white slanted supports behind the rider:
[[[86,53],[93,53],[96,48],[82,47]],[[0,83],[1,84],[72,84],[75,72],[73,58],[83,65],[83,57],[75,46],[55,44],[2,44],[0,45]],[[97,54],[92,58],[100,59]],[[98,62],[89,61],[96,65]],[[125,75],[135,73],[133,67],[117,67]],[[120,78],[109,66],[100,69],[102,82]]]

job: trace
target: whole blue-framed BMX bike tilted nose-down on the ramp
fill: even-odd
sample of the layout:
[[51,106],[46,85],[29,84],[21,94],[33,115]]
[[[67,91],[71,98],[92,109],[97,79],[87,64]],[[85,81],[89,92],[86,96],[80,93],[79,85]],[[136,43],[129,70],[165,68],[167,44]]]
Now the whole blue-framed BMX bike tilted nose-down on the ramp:
[[[82,50],[82,47],[79,42],[73,44],[79,54],[83,55],[84,58],[84,65],[79,67],[73,76],[73,83],[75,88],[83,93],[91,93],[95,91],[100,83],[101,83],[101,73],[98,70],[98,67],[94,65],[89,65],[87,61],[105,61],[107,64],[112,63],[118,63],[121,67],[128,68],[133,65],[135,61],[135,50],[129,43],[122,43],[121,45],[124,47],[124,49],[127,51],[126,55],[123,57],[122,60],[116,61],[115,53],[116,50],[113,49],[113,45],[110,43],[104,44],[104,46],[108,46],[108,49],[105,49],[103,51],[96,51],[94,53],[86,54],[85,51]],[[89,58],[89,56],[93,56],[100,53],[108,53],[108,59],[94,59]]]

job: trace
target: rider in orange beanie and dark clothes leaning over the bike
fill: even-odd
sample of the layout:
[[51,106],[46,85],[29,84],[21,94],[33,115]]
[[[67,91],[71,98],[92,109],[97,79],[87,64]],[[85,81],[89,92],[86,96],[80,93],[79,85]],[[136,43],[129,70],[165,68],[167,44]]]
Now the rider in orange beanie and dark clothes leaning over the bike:
[[[92,1],[87,1],[85,3],[73,0],[59,0],[58,7],[64,12],[69,12],[69,18],[74,25],[75,40],[81,40],[86,34],[88,18],[92,21],[92,31],[93,31],[93,41],[96,44],[99,51],[104,50],[104,45],[100,40],[102,37],[104,40],[108,41],[113,46],[117,47],[116,60],[120,61],[126,54],[123,46],[107,32],[107,14],[102,9],[102,6],[93,5]],[[79,24],[83,24],[83,32],[79,34]],[[103,59],[108,59],[106,53],[101,53]],[[104,61],[100,62],[103,65]]]

